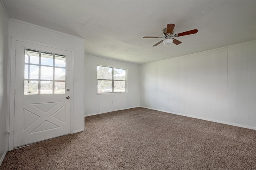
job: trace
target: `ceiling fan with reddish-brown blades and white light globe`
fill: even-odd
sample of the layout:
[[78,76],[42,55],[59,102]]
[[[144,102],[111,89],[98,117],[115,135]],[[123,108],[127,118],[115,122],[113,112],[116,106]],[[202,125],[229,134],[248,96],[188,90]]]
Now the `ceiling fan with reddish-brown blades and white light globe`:
[[184,36],[184,35],[195,34],[198,32],[198,29],[192,29],[190,31],[185,31],[182,33],[174,34],[172,36],[174,27],[175,27],[175,25],[173,23],[167,24],[167,27],[163,29],[164,37],[143,37],[143,38],[164,38],[163,40],[161,40],[158,43],[156,43],[155,45],[153,45],[153,47],[157,46],[158,44],[160,44],[162,42],[164,42],[164,45],[170,45],[171,43],[179,45],[181,43],[181,41],[171,38],[171,37],[180,37],[180,36]]

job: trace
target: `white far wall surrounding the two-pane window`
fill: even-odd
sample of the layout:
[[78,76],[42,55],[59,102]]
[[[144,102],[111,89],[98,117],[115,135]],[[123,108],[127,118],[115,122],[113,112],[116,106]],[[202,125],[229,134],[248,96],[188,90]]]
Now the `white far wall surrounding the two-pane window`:
[[[97,65],[127,69],[127,93],[97,94]],[[85,82],[85,116],[140,106],[137,64],[85,55]]]

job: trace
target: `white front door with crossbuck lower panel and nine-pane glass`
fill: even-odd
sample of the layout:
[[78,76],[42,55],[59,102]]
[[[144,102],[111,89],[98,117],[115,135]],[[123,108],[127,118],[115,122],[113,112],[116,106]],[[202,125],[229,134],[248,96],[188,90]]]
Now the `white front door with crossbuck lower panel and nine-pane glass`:
[[14,148],[70,133],[71,52],[16,41]]

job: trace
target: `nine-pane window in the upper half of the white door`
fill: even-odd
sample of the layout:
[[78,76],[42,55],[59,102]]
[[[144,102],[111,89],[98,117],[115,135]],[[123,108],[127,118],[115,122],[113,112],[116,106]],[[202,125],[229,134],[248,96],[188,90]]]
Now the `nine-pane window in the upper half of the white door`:
[[65,94],[66,56],[25,49],[24,95]]

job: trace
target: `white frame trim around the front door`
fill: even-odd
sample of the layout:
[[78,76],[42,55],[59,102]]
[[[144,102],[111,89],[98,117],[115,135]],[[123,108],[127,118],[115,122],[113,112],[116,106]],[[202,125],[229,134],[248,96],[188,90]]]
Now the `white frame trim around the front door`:
[[40,42],[35,42],[35,41],[30,41],[27,39],[21,39],[17,37],[11,37],[11,48],[10,48],[10,59],[9,59],[9,69],[8,69],[8,83],[10,83],[8,90],[8,103],[7,103],[7,108],[8,108],[8,113],[9,113],[9,121],[7,121],[7,127],[8,127],[8,151],[14,149],[14,106],[15,106],[15,72],[16,72],[16,41],[22,41],[25,43],[32,43],[36,45],[42,45],[46,47],[51,47],[51,48],[56,48],[56,49],[61,49],[65,51],[71,52],[71,90],[70,90],[70,133],[73,133],[73,117],[74,117],[74,49],[68,49],[64,47],[58,47],[55,45],[50,45],[50,44],[45,44],[45,43],[40,43]]

